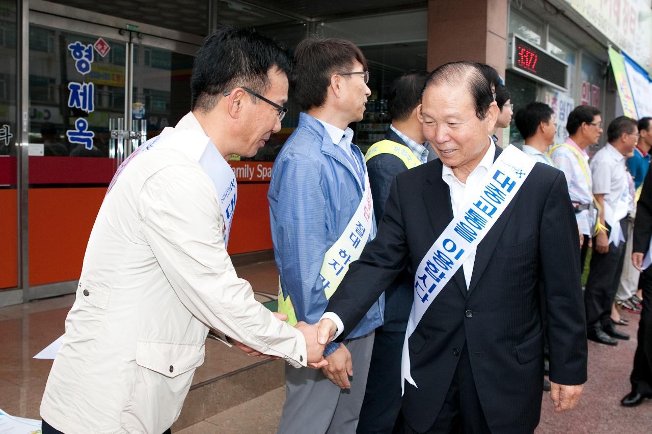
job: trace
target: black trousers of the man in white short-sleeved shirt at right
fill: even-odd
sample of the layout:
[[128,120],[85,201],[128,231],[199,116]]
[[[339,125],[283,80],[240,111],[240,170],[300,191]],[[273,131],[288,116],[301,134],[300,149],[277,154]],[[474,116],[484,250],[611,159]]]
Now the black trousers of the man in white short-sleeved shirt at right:
[[[629,222],[623,218],[620,223],[626,234]],[[625,242],[620,242],[618,247],[610,243],[607,253],[598,253],[595,250],[595,240],[593,241],[591,269],[584,291],[586,328],[589,332],[610,324],[611,308],[625,263]]]

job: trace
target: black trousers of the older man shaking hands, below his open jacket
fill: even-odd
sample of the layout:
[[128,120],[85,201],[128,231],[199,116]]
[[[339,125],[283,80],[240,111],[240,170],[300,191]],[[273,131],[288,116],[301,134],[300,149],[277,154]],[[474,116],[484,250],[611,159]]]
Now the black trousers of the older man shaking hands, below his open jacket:
[[[396,421],[397,434],[417,434],[409,426],[402,413]],[[490,434],[489,426],[484,418],[478,392],[473,381],[471,360],[466,344],[460,353],[460,360],[452,377],[451,387],[444,404],[439,411],[435,424],[418,434]]]

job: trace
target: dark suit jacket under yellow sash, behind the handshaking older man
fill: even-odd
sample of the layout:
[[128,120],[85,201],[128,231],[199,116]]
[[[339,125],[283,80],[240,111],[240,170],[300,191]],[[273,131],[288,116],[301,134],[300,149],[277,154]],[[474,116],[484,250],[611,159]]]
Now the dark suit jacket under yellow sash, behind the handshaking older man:
[[[401,145],[406,143],[393,130],[387,130],[385,139]],[[371,192],[374,197],[374,215],[376,223],[385,212],[385,201],[389,195],[389,187],[394,177],[408,170],[403,160],[392,154],[378,154],[366,163]],[[408,267],[409,268],[409,267]],[[385,290],[385,317],[383,330],[389,332],[404,332],[408,326],[409,311],[412,306],[414,275],[406,268],[394,279]]]

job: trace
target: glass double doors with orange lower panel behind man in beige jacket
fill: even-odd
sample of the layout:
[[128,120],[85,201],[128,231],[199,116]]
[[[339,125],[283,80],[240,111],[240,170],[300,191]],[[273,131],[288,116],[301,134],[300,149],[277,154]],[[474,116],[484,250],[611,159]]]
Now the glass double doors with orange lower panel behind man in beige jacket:
[[[53,295],[52,283],[59,283],[60,293],[74,291],[106,187],[117,164],[145,139],[130,131],[147,124],[147,136],[155,136],[190,109],[194,50],[192,44],[30,12],[31,298]],[[116,131],[110,124],[118,120],[128,143],[121,149],[111,147]]]

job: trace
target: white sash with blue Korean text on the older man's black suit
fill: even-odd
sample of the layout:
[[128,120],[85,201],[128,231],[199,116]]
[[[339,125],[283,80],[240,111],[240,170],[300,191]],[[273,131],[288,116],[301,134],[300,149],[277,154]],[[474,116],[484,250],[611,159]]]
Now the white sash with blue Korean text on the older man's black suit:
[[535,160],[514,145],[505,148],[479,182],[475,194],[454,216],[421,260],[415,272],[414,301],[403,343],[401,362],[403,392],[405,391],[403,379],[417,387],[410,373],[409,337],[417,328],[428,306],[462,267],[467,257],[477,249],[478,244],[514,199],[535,163]]

